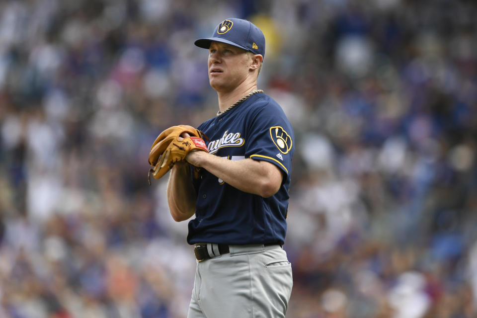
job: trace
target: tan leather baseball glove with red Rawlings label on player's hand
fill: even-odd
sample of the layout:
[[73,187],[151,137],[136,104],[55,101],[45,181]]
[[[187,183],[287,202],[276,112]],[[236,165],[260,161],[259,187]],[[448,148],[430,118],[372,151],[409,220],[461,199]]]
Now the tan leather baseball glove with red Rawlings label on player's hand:
[[[190,137],[179,141],[177,138],[182,133],[188,133]],[[191,151],[200,150],[209,152],[203,138],[207,138],[200,130],[188,125],[172,126],[161,132],[156,138],[149,153],[149,164],[155,179],[161,178],[167,171],[172,169],[176,162],[185,160],[185,156]]]

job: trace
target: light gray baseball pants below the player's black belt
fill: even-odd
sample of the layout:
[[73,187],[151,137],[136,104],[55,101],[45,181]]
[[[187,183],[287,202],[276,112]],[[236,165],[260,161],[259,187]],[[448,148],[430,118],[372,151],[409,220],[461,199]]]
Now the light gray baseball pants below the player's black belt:
[[[208,245],[213,255],[217,244]],[[280,245],[229,248],[230,254],[197,262],[187,318],[285,318],[293,286],[285,250]]]

